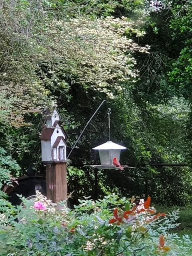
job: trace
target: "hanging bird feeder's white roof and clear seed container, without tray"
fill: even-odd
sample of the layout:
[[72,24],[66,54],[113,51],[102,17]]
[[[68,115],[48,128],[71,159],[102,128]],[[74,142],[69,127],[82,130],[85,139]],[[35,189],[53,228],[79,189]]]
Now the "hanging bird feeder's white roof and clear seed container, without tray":
[[118,161],[120,160],[120,153],[122,149],[126,149],[123,146],[120,146],[112,141],[108,141],[104,144],[101,144],[95,148],[94,150],[99,151],[99,157],[101,166],[114,166],[113,159],[117,158]]

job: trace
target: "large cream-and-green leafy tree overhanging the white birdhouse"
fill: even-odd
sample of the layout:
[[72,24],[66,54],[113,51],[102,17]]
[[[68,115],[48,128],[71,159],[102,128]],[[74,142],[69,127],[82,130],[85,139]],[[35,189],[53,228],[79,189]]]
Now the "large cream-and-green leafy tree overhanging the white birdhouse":
[[58,13],[56,4],[43,0],[2,3],[0,97],[14,126],[23,124],[26,113],[40,112],[57,90],[69,100],[76,84],[114,98],[138,79],[133,53],[148,46],[130,39],[144,34],[135,22],[77,13],[71,18],[65,10]]

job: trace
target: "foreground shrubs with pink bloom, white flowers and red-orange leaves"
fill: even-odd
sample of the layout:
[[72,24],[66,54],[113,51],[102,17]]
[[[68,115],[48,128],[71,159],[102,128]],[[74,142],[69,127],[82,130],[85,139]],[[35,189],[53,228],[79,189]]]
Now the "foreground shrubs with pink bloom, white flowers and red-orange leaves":
[[169,234],[178,226],[178,211],[157,214],[150,197],[138,205],[134,198],[116,195],[96,202],[80,200],[74,210],[64,203],[53,204],[39,192],[36,202],[22,200],[25,207],[12,209],[18,222],[10,211],[0,216],[1,256],[182,256],[190,252],[188,236],[180,241]]

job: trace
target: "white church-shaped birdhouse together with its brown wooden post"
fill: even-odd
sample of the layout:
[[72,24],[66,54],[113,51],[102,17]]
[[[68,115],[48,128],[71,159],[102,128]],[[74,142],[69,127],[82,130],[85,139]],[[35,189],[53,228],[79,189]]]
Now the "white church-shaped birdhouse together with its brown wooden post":
[[42,163],[46,165],[47,198],[57,203],[67,198],[67,136],[58,111],[46,114],[41,134]]

